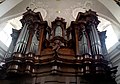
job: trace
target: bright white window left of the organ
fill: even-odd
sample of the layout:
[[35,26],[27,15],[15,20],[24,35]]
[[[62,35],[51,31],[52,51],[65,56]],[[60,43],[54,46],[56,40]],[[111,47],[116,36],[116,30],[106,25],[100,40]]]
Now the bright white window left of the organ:
[[12,28],[19,30],[22,27],[22,24],[20,22],[21,18],[22,18],[22,16],[13,18],[13,19],[7,21],[7,23],[5,23],[5,26],[0,26],[0,28],[1,28],[0,41],[3,42],[7,47],[10,46],[11,41],[12,41],[12,37],[11,37]]

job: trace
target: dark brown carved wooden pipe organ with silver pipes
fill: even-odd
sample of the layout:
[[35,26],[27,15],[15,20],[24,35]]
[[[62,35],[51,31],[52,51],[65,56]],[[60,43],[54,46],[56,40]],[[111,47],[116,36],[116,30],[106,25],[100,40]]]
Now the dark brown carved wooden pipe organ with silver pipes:
[[116,84],[116,67],[102,53],[96,12],[79,12],[66,29],[65,19],[57,17],[49,27],[28,9],[21,23],[3,84]]

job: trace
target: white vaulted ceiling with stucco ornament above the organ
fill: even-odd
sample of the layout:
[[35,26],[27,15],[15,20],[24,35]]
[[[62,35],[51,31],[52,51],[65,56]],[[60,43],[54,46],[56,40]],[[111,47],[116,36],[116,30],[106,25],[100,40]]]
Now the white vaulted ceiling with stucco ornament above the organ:
[[100,17],[120,23],[120,7],[113,0],[5,0],[0,4],[0,23],[21,16],[28,6],[48,22],[63,17],[69,25],[79,11],[92,9]]

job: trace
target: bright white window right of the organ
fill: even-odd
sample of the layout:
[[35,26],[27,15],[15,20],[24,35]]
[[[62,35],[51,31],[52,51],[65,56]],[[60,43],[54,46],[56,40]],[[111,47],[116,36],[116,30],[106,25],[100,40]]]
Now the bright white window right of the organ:
[[105,39],[107,49],[110,49],[115,43],[118,42],[117,36],[113,30],[111,22],[99,17],[100,24],[98,25],[99,31],[106,31],[107,38]]

